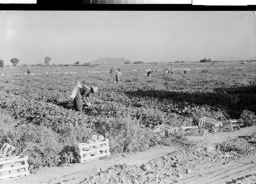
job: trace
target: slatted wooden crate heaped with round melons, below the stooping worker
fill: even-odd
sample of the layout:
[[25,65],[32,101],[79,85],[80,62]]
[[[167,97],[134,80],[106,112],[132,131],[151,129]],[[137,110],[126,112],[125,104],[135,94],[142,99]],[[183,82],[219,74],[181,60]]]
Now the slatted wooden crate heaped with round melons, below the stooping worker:
[[[100,141],[98,143],[93,143],[93,144],[88,144],[88,145],[82,145],[83,143],[74,143],[74,147],[75,147],[75,152],[76,154],[78,155],[78,161],[80,163],[82,162],[86,162],[86,161],[91,161],[91,160],[95,160],[95,159],[98,159],[99,157],[102,157],[102,156],[106,156],[106,155],[110,155],[110,147],[109,147],[109,139],[104,139],[104,141]],[[96,146],[96,145],[102,145],[102,144],[105,144],[106,147],[103,147],[103,148],[98,148],[98,149],[94,149],[94,150],[83,150],[82,148],[86,148],[86,147],[91,147],[91,146]],[[106,152],[105,153],[101,153],[101,154],[98,154],[98,155],[91,155],[89,157],[83,157],[84,154],[87,154],[87,153],[92,153],[92,152],[95,152],[95,151],[102,151],[106,149]]]

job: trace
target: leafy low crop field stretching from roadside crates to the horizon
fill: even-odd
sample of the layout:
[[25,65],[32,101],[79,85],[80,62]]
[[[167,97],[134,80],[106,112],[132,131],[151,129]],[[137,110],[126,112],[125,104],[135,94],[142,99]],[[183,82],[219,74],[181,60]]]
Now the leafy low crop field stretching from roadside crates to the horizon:
[[[32,75],[24,74],[25,66],[1,68],[1,144],[12,144],[16,153],[27,150],[30,170],[36,170],[77,162],[73,143],[93,134],[108,138],[112,153],[137,152],[175,144],[153,131],[159,123],[190,126],[203,116],[226,120],[239,119],[245,109],[256,112],[253,62],[116,66],[122,68],[120,84],[111,65],[60,66],[60,73],[55,66],[32,66]],[[164,74],[168,66],[174,74]],[[156,71],[151,78],[147,69]],[[82,112],[73,110],[69,97],[77,80],[99,88]]]

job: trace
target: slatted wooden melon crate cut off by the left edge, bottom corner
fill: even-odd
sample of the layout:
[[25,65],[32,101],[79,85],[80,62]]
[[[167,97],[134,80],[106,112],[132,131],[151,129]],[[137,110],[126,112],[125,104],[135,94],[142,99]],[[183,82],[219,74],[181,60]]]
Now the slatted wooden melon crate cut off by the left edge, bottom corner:
[[[9,168],[4,168],[2,169],[2,166],[4,164],[11,164],[13,165],[14,163],[22,163],[22,165],[20,166],[12,166]],[[19,156],[13,156],[13,157],[5,157],[3,159],[0,159],[0,173],[2,172],[10,172],[11,170],[19,170],[19,169],[24,169],[25,172],[21,172],[21,173],[16,173],[16,174],[9,174],[9,175],[5,175],[5,176],[0,176],[0,181],[1,180],[8,180],[8,179],[14,179],[14,178],[19,178],[19,177],[23,177],[23,176],[28,176],[29,175],[29,165],[28,165],[28,156],[25,154],[21,154]]]

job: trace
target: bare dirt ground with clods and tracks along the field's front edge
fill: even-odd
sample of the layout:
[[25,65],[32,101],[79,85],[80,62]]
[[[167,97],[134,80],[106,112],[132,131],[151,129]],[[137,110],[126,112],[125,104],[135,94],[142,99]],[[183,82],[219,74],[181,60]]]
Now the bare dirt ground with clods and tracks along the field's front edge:
[[112,154],[84,163],[39,170],[0,183],[256,183],[256,144],[247,152],[223,152],[216,145],[250,136],[256,126],[232,132],[188,136],[180,146]]

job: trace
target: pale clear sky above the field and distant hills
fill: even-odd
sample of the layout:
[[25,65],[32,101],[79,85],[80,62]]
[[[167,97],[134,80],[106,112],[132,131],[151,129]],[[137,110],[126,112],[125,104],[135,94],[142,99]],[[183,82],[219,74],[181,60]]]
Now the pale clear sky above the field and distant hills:
[[253,11],[1,11],[0,59],[11,65],[246,60],[256,55]]

